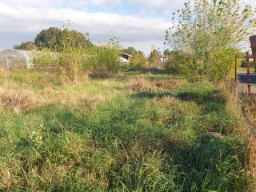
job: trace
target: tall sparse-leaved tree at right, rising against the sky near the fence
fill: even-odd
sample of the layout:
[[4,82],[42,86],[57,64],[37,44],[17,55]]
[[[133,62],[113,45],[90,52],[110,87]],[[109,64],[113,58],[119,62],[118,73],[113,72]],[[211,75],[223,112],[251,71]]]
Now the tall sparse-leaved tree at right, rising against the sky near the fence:
[[[192,6],[193,5],[193,6]],[[245,9],[242,9],[245,7]],[[166,31],[166,42],[177,51],[178,70],[191,81],[221,81],[229,74],[236,47],[250,32],[253,11],[242,0],[186,2]]]

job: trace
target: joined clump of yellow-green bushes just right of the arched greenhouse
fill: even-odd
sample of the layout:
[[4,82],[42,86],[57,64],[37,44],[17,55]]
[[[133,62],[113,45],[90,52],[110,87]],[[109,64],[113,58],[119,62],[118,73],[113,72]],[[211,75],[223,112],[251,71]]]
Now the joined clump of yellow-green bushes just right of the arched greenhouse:
[[[65,30],[64,30],[65,32]],[[84,42],[78,43],[76,33],[62,34],[62,50],[35,52],[33,63],[36,69],[54,68],[63,78],[78,82],[86,70],[92,70],[100,77],[109,77],[120,70],[120,48],[116,39],[102,46],[85,47]]]

